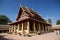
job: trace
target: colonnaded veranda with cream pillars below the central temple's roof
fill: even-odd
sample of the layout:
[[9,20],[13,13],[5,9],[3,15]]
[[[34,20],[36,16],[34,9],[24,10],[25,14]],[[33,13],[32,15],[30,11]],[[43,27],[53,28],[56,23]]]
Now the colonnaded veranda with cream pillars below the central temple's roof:
[[10,24],[9,32],[20,34],[31,34],[40,32],[50,32],[51,25],[35,19],[24,19]]

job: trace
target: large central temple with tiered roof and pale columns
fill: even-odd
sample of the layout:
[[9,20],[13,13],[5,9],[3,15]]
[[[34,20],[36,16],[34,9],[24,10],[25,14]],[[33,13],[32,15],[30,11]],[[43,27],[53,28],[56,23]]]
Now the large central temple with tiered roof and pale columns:
[[40,32],[50,32],[51,24],[47,23],[41,15],[32,9],[20,6],[16,22],[10,25],[9,32],[20,34],[31,34]]

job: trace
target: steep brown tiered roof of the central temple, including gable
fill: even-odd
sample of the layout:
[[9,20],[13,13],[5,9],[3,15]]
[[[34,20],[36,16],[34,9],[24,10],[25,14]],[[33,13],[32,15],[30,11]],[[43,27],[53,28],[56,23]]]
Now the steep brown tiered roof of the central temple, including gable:
[[[21,16],[24,16],[24,17],[21,18]],[[25,8],[23,6],[20,6],[20,10],[19,10],[18,16],[16,18],[16,22],[14,22],[12,24],[15,24],[20,21],[27,20],[27,19],[32,19],[32,20],[35,20],[35,21],[38,21],[38,22],[41,22],[44,24],[48,24],[44,21],[44,19],[41,17],[41,15],[39,15],[37,12],[35,12],[34,10],[29,9],[27,7]],[[48,25],[50,25],[50,24],[48,24]]]

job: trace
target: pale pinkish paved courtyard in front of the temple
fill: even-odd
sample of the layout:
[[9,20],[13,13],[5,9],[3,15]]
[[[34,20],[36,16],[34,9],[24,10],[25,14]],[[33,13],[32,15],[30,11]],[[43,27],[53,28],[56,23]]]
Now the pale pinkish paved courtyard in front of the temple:
[[56,35],[55,32],[51,32],[25,37],[14,34],[0,33],[0,40],[60,40],[60,34]]

